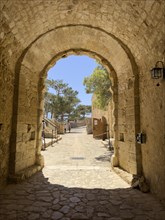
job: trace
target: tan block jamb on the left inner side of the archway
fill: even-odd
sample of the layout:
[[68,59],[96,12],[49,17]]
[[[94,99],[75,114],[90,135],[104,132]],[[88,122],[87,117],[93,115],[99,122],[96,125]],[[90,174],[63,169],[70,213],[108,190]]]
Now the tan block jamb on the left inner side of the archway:
[[37,74],[21,66],[19,82],[16,173],[35,164],[38,117]]

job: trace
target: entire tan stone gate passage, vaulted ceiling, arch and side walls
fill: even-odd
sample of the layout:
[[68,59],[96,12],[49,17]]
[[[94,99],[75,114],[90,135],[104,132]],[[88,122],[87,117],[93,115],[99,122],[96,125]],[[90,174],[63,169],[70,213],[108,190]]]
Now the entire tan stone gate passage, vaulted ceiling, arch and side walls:
[[143,174],[165,199],[165,80],[150,74],[165,61],[165,1],[1,0],[0,10],[0,185],[43,167],[47,71],[85,54],[111,73],[113,165]]

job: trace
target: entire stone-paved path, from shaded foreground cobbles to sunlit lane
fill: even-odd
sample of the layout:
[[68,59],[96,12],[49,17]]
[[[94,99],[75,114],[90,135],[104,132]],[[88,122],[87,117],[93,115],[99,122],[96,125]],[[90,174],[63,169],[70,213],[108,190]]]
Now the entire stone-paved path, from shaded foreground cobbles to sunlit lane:
[[159,201],[114,173],[111,153],[84,129],[43,155],[42,172],[0,191],[1,220],[165,220]]

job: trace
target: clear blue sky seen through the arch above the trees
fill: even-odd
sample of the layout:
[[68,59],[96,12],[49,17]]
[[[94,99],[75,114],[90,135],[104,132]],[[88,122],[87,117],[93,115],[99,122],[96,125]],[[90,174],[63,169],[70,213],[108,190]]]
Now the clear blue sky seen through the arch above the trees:
[[[60,59],[54,67],[48,71],[48,79],[63,80],[73,90],[79,92],[78,98],[83,105],[91,105],[91,94],[86,94],[83,79],[89,76],[98,66],[96,60],[88,56],[71,55]],[[52,91],[50,91],[52,92]]]

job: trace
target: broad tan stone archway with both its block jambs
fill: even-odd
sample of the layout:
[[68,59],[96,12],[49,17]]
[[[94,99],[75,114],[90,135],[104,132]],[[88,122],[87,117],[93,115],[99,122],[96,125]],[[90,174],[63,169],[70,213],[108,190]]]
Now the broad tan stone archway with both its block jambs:
[[[102,40],[99,44],[98,38]],[[140,126],[136,114],[139,110],[138,69],[133,56],[128,48],[105,31],[76,25],[45,33],[27,47],[17,62],[18,91],[13,107],[17,117],[14,118],[12,140],[17,139],[12,141],[10,152],[11,177],[20,173],[28,176],[42,167],[40,139],[46,69],[64,55],[81,53],[99,59],[111,72],[115,117],[113,164],[133,174],[141,172],[140,150],[137,150],[135,141]],[[128,122],[130,115],[132,118]],[[124,142],[120,140],[121,134],[125,136]]]

